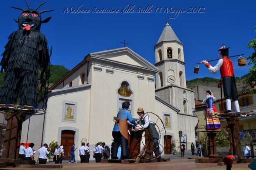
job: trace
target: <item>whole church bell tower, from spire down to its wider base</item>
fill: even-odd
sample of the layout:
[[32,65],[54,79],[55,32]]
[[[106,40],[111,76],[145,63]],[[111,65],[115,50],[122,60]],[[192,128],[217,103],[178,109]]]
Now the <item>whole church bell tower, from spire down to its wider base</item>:
[[194,91],[186,84],[183,46],[170,24],[166,23],[154,46],[155,66],[159,68],[156,95],[180,109],[180,113],[192,114]]

